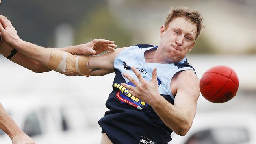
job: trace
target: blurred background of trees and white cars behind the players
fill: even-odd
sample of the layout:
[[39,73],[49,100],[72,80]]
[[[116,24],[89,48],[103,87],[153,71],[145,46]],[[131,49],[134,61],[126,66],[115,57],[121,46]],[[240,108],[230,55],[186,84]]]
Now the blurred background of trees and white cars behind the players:
[[[158,45],[171,7],[200,11],[204,29],[188,62],[198,78],[210,67],[226,65],[239,77],[237,95],[226,103],[200,96],[197,115],[185,137],[170,144],[255,144],[255,0],[2,0],[0,14],[19,36],[45,47],[82,44],[96,38],[117,47]],[[99,144],[98,120],[114,74],[89,78],[56,72],[33,73],[0,55],[0,102],[37,144]],[[11,144],[0,131],[0,143]]]

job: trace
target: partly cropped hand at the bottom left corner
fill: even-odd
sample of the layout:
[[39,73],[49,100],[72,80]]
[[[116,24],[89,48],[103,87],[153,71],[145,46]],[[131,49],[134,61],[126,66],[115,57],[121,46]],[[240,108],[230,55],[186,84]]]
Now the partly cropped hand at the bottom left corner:
[[26,133],[20,131],[17,135],[11,137],[13,144],[35,144],[35,142]]

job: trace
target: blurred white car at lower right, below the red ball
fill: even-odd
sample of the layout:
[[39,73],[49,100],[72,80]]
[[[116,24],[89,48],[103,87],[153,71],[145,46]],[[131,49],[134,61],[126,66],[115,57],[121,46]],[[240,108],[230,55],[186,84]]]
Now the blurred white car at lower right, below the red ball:
[[172,133],[169,144],[256,144],[256,116],[247,113],[196,115],[189,132]]

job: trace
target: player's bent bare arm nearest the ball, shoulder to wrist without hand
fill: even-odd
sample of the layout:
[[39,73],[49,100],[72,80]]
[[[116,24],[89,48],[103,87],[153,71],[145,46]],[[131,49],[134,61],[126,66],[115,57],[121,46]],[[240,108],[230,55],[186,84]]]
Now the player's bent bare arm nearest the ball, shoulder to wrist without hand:
[[168,127],[178,135],[184,136],[189,131],[196,114],[200,95],[199,79],[192,70],[186,70],[176,74],[172,83],[171,90],[176,92],[174,105],[159,97],[160,99],[151,106]]

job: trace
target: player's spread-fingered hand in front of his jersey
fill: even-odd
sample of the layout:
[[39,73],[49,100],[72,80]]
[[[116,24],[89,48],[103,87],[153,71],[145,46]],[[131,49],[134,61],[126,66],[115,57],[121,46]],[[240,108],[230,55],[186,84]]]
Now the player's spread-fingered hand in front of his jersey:
[[123,74],[123,76],[129,79],[136,87],[132,85],[127,85],[126,83],[122,83],[121,85],[129,89],[129,92],[130,94],[132,94],[132,96],[139,98],[140,100],[148,103],[149,105],[158,101],[161,98],[161,96],[158,91],[156,68],[154,68],[152,72],[151,81],[149,82],[143,78],[141,73],[138,70],[136,70],[135,67],[132,66],[132,70],[139,79],[139,82],[131,76],[129,76],[128,74]]

